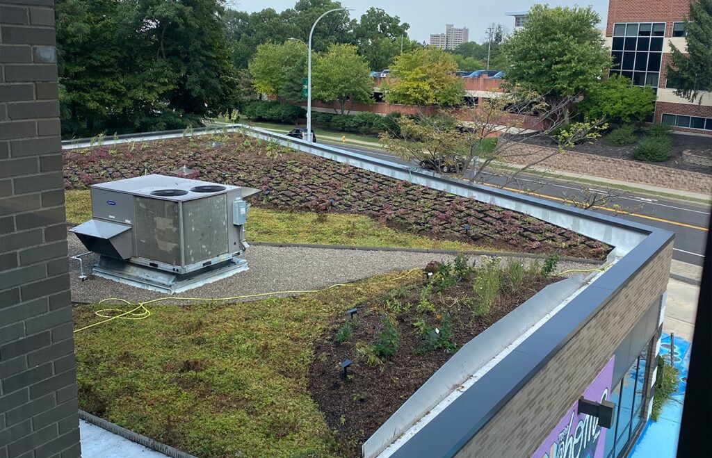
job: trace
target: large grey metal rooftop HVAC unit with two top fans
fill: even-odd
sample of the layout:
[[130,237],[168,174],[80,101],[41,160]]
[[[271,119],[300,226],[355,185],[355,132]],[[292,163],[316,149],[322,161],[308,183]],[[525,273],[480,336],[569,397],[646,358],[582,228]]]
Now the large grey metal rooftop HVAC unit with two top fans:
[[147,175],[91,186],[92,220],[72,231],[101,255],[93,273],[180,292],[247,269],[252,188]]

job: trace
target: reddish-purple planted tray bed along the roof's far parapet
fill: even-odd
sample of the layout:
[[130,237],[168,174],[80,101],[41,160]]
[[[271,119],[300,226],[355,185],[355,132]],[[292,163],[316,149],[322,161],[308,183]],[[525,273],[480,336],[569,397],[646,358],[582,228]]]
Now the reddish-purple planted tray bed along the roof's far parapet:
[[260,188],[253,205],[293,211],[368,215],[397,230],[460,240],[495,250],[604,259],[598,240],[522,213],[256,139],[217,142],[189,137],[65,151],[67,189],[142,174],[168,174],[187,165],[200,179]]

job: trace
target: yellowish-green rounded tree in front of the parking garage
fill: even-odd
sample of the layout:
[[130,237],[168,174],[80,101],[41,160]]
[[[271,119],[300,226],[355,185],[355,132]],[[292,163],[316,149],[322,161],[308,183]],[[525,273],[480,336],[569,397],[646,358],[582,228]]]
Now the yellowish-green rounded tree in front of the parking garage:
[[464,90],[456,70],[452,55],[432,46],[403,53],[392,65],[393,82],[384,84],[385,98],[406,105],[457,105]]

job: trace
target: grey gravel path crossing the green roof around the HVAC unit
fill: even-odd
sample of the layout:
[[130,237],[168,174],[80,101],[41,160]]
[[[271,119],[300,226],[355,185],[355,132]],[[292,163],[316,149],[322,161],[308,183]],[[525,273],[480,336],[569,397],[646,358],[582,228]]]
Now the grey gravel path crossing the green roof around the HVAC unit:
[[[86,251],[73,233],[68,234],[69,255]],[[83,257],[84,272],[98,262],[98,255]],[[330,250],[325,248],[250,247],[244,258],[250,269],[232,277],[206,284],[179,294],[182,297],[234,297],[275,291],[322,289],[332,284],[353,282],[394,270],[425,267],[433,260],[452,260],[454,256],[434,253],[402,251]],[[481,262],[483,256],[476,256]],[[523,260],[526,264],[530,260]],[[597,267],[576,262],[560,262],[557,270],[592,269]],[[142,302],[164,294],[90,277],[78,279],[79,262],[70,260],[70,281],[73,302],[99,302],[106,297],[117,297],[130,302]],[[185,302],[182,302],[185,304]]]

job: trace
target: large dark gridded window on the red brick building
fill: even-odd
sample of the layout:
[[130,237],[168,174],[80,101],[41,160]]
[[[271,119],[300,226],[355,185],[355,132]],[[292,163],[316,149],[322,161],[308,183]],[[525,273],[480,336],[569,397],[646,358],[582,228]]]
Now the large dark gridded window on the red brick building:
[[664,22],[614,24],[610,74],[630,78],[637,86],[657,87],[664,35]]

